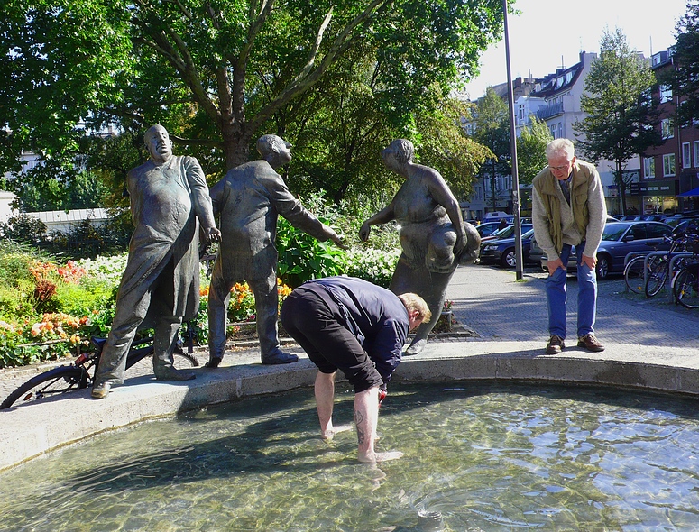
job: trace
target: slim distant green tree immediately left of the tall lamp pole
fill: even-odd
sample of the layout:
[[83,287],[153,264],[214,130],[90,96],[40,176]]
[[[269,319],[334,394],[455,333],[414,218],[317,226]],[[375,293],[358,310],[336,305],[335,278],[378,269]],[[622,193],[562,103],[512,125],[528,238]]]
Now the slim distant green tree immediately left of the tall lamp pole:
[[496,209],[495,178],[510,172],[510,113],[507,104],[492,87],[485,89],[476,103],[474,140],[492,151],[490,160],[481,167],[483,178],[491,179],[492,210]]

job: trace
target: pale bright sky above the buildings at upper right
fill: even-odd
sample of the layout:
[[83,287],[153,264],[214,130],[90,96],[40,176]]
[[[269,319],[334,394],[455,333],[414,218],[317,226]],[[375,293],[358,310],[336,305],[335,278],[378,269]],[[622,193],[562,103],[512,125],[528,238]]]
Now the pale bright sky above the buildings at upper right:
[[[600,51],[605,28],[619,27],[631,48],[650,57],[675,43],[675,25],[686,0],[517,0],[508,14],[512,79],[543,78],[579,62],[580,51]],[[505,39],[481,56],[481,74],[466,86],[475,100],[491,85],[507,82]]]

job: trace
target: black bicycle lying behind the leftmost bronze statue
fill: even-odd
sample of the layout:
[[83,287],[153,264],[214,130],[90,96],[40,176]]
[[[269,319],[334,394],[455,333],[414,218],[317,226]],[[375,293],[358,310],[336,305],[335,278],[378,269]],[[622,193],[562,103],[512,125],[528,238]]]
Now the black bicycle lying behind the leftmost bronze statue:
[[[178,344],[173,353],[176,367],[197,367],[199,362],[194,353],[193,340],[194,331],[190,322],[187,323],[188,349],[183,349],[183,342],[180,336]],[[133,342],[126,355],[126,369],[128,370],[137,362],[152,356],[153,337],[149,336]],[[69,392],[71,390],[82,390],[92,386],[95,378],[95,371],[99,364],[99,357],[102,348],[106,343],[106,338],[90,338],[90,343],[95,347],[95,351],[80,353],[75,362],[68,366],[59,366],[49,371],[32,377],[14,390],[7,398],[0,403],[0,409],[10,408],[15,402],[27,403],[29,401],[46,399],[55,395]],[[148,344],[148,345],[146,345]]]

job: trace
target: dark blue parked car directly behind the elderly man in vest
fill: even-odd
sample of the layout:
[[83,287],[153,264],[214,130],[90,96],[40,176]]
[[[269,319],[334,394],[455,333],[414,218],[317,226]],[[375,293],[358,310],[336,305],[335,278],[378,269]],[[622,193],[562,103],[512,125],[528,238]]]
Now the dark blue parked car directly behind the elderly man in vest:
[[[652,252],[669,249],[669,243],[663,237],[672,234],[672,227],[661,222],[610,222],[604,225],[602,243],[597,249],[597,279],[605,280],[610,273],[624,271],[624,259],[631,252]],[[529,243],[529,257],[538,259],[541,268],[547,270],[547,256],[536,241]],[[567,271],[577,273],[575,250],[571,252],[566,265]]]

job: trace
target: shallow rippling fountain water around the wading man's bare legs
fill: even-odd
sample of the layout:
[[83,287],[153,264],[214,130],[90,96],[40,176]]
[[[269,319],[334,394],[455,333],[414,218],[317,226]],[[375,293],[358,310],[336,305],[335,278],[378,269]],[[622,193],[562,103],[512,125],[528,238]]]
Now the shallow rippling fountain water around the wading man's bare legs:
[[[354,395],[338,386],[336,425]],[[695,530],[695,400],[394,385],[378,450],[317,436],[312,390],[99,436],[0,474],[0,530]],[[69,422],[67,420],[67,422]]]

